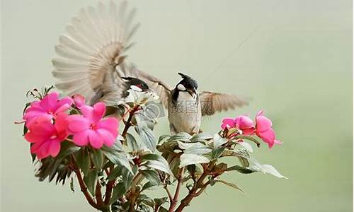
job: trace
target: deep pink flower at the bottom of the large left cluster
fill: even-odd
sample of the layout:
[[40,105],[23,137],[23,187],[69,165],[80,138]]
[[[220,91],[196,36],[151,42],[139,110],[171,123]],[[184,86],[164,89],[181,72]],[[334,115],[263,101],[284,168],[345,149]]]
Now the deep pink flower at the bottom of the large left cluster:
[[28,126],[25,139],[33,143],[30,152],[35,153],[38,159],[47,158],[49,155],[54,158],[58,155],[60,143],[68,136],[67,116],[68,114],[64,112],[57,114],[54,124],[51,119],[40,116],[33,119]]

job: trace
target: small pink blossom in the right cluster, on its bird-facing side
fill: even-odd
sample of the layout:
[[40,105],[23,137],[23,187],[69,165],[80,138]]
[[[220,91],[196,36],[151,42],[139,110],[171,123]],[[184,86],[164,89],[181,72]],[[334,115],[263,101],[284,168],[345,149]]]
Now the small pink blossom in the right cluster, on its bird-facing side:
[[232,118],[222,119],[222,129],[232,129],[235,127],[241,130],[242,134],[244,135],[249,136],[254,134],[253,120],[245,115],[236,117],[236,119],[232,119]]

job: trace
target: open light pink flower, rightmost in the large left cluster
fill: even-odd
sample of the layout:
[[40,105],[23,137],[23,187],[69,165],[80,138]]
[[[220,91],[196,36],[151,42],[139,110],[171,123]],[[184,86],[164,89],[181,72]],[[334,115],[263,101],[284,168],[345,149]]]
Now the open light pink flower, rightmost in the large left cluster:
[[105,104],[98,102],[93,107],[84,105],[80,107],[81,115],[68,117],[68,129],[73,134],[74,143],[86,146],[90,143],[93,148],[113,146],[118,136],[118,120],[113,117],[102,119],[105,114]]

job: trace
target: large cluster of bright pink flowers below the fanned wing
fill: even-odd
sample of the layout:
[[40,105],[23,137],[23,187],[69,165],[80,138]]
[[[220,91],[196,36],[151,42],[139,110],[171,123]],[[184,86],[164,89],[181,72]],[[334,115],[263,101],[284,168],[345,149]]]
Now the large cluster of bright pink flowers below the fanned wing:
[[[68,114],[71,107],[79,114]],[[85,105],[81,95],[59,98],[57,92],[48,93],[41,100],[31,102],[23,115],[28,129],[25,139],[33,143],[30,152],[38,159],[56,157],[60,143],[70,136],[77,146],[113,146],[118,136],[118,119],[103,118],[104,114],[103,102],[91,107]]]

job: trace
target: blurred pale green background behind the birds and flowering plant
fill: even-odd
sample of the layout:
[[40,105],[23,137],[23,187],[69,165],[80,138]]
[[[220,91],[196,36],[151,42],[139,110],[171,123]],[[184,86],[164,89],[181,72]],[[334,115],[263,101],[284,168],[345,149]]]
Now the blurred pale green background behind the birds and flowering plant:
[[[205,119],[217,131],[222,117],[260,109],[278,139],[253,157],[289,179],[227,174],[246,195],[220,184],[186,211],[353,210],[353,1],[130,1],[142,23],[129,59],[171,85],[177,71],[200,90],[252,98],[249,107]],[[25,92],[51,85],[51,59],[72,16],[95,0],[1,1],[1,210],[93,211],[76,186],[38,182],[21,136]],[[159,121],[157,135],[169,132]],[[154,193],[157,196],[161,192]]]

